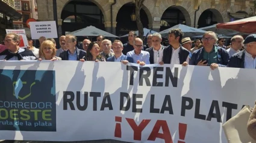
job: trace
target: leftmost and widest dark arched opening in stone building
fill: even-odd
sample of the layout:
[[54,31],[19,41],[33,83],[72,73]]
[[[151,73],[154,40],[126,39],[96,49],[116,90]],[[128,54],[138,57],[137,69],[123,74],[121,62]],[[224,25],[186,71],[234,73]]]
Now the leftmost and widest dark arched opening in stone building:
[[70,1],[63,8],[61,19],[63,19],[61,26],[63,35],[90,25],[105,30],[101,9],[95,3],[87,0]]

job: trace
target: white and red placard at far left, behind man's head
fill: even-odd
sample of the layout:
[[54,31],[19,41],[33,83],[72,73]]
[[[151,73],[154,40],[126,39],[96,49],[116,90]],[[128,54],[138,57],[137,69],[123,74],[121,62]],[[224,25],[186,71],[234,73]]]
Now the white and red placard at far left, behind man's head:
[[19,47],[21,48],[28,47],[28,40],[27,40],[25,29],[5,29],[5,31],[6,31],[6,34],[16,33],[17,35],[19,35],[19,38],[20,38]]

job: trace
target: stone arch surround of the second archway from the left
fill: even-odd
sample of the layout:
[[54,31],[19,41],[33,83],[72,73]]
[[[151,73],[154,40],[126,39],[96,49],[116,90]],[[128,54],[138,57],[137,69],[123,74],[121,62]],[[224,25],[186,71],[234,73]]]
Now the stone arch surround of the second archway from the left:
[[[129,4],[129,3],[134,3],[134,1],[133,0],[123,0],[123,1],[117,1],[116,2],[116,4],[114,5],[115,8],[113,8],[113,22],[116,22],[117,13],[119,12],[120,8],[123,5]],[[148,16],[149,25],[152,24],[153,23],[153,19],[152,19],[151,11],[144,4],[142,6],[142,9],[145,11],[146,15]]]

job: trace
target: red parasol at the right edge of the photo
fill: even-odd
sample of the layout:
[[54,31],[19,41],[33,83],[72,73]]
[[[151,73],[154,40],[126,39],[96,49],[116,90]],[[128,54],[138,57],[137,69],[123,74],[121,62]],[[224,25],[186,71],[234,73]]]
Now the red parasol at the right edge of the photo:
[[246,19],[240,19],[233,22],[218,23],[217,29],[232,29],[238,32],[246,34],[252,34],[256,32],[256,16],[248,17]]

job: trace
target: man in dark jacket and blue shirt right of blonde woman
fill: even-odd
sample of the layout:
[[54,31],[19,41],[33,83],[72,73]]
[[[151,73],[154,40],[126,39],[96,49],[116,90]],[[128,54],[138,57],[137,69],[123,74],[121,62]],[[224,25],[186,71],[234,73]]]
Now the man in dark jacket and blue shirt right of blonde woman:
[[78,49],[76,45],[77,38],[74,35],[66,35],[65,43],[67,50],[60,53],[62,60],[79,61],[86,56],[86,51]]

